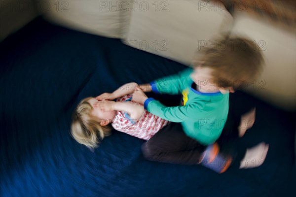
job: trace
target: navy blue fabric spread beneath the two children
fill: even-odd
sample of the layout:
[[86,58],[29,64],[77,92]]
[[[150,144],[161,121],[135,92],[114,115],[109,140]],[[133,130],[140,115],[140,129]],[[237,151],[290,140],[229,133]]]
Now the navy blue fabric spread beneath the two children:
[[[118,131],[94,152],[70,136],[80,99],[184,68],[118,39],[68,30],[41,17],[6,38],[0,43],[0,196],[295,195],[295,114],[242,92],[231,94],[231,103],[237,110],[255,104],[257,119],[240,146],[270,145],[258,168],[217,174],[201,165],[150,162],[141,153],[144,140]],[[179,104],[180,96],[151,95]]]

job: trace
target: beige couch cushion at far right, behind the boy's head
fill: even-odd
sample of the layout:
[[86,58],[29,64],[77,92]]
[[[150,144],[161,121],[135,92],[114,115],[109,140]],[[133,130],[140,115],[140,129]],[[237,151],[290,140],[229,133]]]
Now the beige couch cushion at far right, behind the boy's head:
[[286,110],[296,108],[296,37],[245,12],[234,14],[232,36],[247,35],[262,49],[265,67],[250,93]]

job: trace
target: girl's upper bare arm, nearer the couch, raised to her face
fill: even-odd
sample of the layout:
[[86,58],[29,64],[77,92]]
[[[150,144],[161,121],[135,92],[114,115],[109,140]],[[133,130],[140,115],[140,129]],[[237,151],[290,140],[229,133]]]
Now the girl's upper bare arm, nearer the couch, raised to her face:
[[125,95],[132,94],[135,88],[138,87],[138,84],[135,82],[124,84],[123,86],[119,87],[112,93],[103,93],[96,97],[97,100],[113,100],[119,97],[123,97]]

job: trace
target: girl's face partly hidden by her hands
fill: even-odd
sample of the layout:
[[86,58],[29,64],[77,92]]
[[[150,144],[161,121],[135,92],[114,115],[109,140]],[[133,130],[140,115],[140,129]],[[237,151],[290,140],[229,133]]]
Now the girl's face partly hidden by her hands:
[[97,99],[89,99],[88,100],[89,104],[93,107],[93,111],[91,113],[92,116],[97,117],[98,121],[102,120],[112,120],[116,114],[116,111],[102,111],[100,107],[98,106],[98,103],[101,102],[100,100]]

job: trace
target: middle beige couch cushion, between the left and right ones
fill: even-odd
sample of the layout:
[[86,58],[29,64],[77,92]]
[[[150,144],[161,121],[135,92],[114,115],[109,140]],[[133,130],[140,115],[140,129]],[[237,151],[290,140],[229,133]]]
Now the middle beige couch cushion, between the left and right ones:
[[[140,7],[141,2],[144,3]],[[139,0],[141,9],[136,6],[132,11],[129,31],[122,41],[185,65],[191,63],[199,46],[207,44],[209,39],[217,39],[232,27],[232,16],[222,3],[201,0],[146,2]]]

